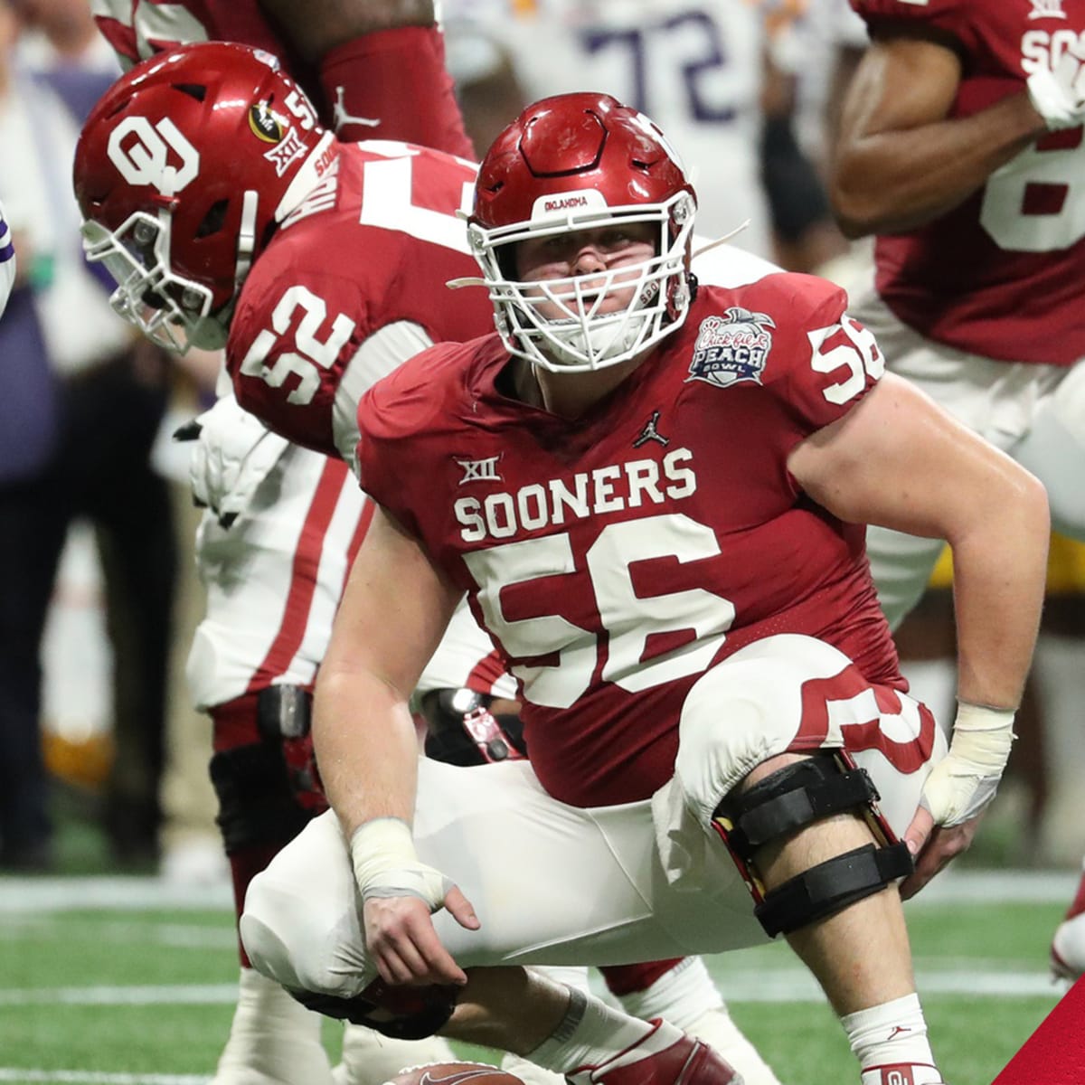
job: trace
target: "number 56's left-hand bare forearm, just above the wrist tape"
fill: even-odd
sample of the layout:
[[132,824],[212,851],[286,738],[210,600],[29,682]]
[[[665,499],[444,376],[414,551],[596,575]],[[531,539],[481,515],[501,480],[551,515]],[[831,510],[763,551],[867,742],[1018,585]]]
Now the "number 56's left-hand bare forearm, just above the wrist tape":
[[312,742],[328,801],[349,840],[363,822],[414,813],[418,740],[406,701],[375,676],[322,669]]

